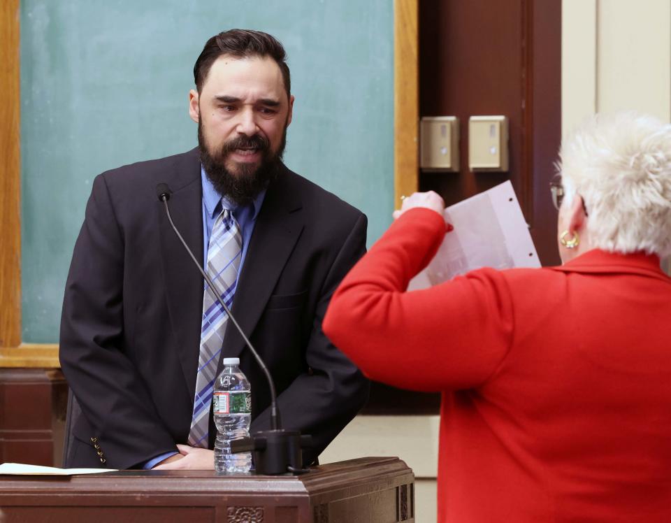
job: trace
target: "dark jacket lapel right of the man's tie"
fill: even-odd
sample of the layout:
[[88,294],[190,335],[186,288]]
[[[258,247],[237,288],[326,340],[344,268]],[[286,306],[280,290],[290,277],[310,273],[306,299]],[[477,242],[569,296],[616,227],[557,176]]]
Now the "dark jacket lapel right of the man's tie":
[[[268,187],[238,280],[232,312],[248,338],[303,231],[301,199],[290,185],[290,173],[284,168]],[[238,357],[244,347],[243,338],[230,324],[226,327],[222,357]],[[222,368],[220,359],[217,375]]]

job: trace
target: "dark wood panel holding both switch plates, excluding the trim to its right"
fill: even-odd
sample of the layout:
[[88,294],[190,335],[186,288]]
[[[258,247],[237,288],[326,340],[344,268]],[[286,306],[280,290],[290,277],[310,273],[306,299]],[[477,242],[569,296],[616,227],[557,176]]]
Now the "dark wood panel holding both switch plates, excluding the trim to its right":
[[[459,117],[461,170],[422,173],[421,189],[438,189],[451,205],[512,178],[521,180],[523,122],[522,2],[508,0],[422,3],[419,36],[419,112]],[[468,117],[510,120],[510,176],[468,169]]]

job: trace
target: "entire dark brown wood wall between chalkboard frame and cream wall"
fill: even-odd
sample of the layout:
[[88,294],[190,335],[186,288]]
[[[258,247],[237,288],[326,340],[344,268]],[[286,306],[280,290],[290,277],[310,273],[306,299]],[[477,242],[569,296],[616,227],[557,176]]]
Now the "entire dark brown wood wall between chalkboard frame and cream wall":
[[[547,184],[561,140],[561,2],[427,1],[419,12],[419,115],[460,121],[459,173],[421,173],[450,205],[511,180],[543,264],[558,263]],[[508,173],[468,169],[468,118],[505,115]]]

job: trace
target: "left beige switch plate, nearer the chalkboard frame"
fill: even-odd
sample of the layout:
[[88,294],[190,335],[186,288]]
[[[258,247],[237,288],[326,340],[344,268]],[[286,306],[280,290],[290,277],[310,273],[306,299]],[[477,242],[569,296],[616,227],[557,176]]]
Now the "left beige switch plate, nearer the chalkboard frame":
[[419,167],[424,171],[459,171],[459,119],[425,116],[419,124]]

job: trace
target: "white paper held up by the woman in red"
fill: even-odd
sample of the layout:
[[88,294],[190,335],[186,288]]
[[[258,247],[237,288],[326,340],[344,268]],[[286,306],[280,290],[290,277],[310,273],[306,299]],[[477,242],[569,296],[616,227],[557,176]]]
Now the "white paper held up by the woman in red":
[[454,231],[408,290],[426,289],[476,268],[540,267],[512,183],[504,182],[445,209]]

